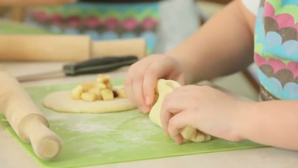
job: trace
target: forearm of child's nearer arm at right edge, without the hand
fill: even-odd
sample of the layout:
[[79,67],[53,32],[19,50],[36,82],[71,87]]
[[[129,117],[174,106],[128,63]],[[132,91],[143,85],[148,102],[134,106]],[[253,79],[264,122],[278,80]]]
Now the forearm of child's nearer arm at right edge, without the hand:
[[[239,115],[240,137],[298,150],[298,101],[269,101],[244,106]],[[237,128],[236,128],[237,129]]]

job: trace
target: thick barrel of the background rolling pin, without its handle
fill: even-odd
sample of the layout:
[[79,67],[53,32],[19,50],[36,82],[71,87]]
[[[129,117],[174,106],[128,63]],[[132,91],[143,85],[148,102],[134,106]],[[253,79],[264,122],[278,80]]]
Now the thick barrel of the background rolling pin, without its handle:
[[90,45],[87,35],[0,35],[0,60],[86,60]]

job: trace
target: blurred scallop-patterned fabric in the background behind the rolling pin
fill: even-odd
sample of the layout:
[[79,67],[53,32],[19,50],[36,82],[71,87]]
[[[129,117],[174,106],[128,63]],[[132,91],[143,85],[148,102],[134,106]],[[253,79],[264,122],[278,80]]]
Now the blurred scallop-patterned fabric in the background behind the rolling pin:
[[94,40],[142,37],[148,54],[156,43],[159,5],[148,3],[76,2],[61,6],[34,7],[26,22],[52,32],[88,34]]

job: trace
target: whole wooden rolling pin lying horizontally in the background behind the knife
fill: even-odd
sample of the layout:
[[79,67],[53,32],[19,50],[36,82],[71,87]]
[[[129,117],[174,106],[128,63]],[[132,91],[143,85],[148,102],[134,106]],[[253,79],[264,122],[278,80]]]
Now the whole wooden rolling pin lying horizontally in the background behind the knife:
[[0,35],[0,60],[82,61],[146,54],[144,39],[93,41],[88,35]]

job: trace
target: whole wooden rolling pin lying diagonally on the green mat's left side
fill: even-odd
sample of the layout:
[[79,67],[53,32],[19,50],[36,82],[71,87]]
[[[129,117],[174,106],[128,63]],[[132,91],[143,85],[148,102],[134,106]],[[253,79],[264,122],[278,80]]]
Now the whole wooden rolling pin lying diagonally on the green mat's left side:
[[0,70],[0,111],[16,134],[31,143],[35,154],[44,160],[61,150],[61,140],[49,128],[49,122],[31,101],[16,79]]

